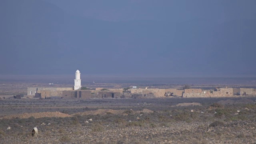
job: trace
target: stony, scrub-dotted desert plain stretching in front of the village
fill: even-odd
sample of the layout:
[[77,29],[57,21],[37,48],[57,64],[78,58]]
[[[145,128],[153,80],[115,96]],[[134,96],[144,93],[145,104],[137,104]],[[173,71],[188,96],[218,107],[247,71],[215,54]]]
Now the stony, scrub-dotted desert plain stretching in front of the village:
[[[254,143],[255,103],[255,97],[6,99],[0,143]],[[35,126],[38,138],[31,136]]]

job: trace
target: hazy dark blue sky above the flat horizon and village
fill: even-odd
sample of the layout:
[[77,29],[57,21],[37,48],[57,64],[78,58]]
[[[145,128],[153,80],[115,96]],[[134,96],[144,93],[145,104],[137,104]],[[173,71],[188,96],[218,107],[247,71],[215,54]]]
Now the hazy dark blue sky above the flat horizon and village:
[[0,74],[256,76],[255,0],[0,0]]

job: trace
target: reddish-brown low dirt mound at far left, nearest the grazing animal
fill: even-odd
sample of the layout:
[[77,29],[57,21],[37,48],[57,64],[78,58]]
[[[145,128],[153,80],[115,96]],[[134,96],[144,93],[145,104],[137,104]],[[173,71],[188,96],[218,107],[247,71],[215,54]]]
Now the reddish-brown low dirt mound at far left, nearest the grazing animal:
[[6,119],[11,119],[11,118],[29,118],[29,117],[34,117],[34,118],[43,118],[43,117],[70,117],[69,114],[64,114],[62,112],[38,112],[38,113],[24,113],[24,114],[16,114],[16,115],[9,115],[9,116],[4,116],[2,118]]

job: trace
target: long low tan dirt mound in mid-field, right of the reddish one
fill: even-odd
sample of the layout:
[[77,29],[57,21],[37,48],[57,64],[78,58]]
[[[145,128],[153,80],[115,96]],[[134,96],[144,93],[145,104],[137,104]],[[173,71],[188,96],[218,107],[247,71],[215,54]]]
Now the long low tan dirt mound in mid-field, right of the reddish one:
[[[148,109],[143,109],[143,110],[139,110],[139,111],[132,111],[130,110],[131,112],[133,113],[140,113],[140,112],[144,112],[144,113],[150,113],[150,112],[153,112],[152,110],[148,110]],[[104,115],[104,114],[126,114],[127,110],[112,110],[112,109],[98,109],[98,110],[90,110],[90,111],[86,111],[86,112],[78,112],[78,113],[75,113],[75,114],[72,114],[72,115],[97,115],[97,114],[101,114],[101,115]]]

